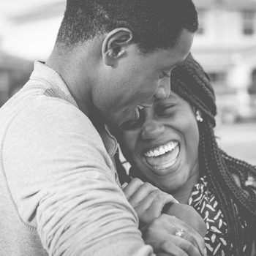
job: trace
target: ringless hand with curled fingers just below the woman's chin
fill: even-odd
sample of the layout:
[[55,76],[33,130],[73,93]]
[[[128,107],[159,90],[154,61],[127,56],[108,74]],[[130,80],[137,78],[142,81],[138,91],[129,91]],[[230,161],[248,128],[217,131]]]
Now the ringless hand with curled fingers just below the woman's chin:
[[129,184],[124,184],[122,189],[138,214],[140,227],[159,217],[167,203],[178,203],[172,195],[162,192],[148,182],[144,183],[139,178],[133,178]]

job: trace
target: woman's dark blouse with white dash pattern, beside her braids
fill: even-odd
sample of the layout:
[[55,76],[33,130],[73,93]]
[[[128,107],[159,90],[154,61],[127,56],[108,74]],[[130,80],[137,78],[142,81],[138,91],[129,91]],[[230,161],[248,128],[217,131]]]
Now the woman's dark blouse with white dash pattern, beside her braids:
[[[206,222],[207,233],[205,237],[206,248],[208,256],[217,255],[223,256],[233,255],[233,244],[227,246],[226,234],[227,234],[227,223],[222,214],[222,210],[219,207],[219,203],[215,199],[215,196],[207,187],[208,182],[206,176],[199,179],[198,183],[192,189],[192,194],[189,197],[189,206],[195,208],[200,216]],[[236,204],[236,211],[238,213]],[[239,223],[246,233],[246,220],[240,218]],[[251,255],[252,242],[244,244],[243,252],[241,256]]]

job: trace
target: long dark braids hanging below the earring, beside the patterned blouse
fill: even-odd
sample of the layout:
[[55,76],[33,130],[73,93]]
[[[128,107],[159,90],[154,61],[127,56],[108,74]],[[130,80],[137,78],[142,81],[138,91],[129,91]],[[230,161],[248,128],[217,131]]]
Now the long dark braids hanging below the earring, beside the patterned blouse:
[[[236,252],[237,255],[241,255],[243,239],[241,239],[242,233],[239,230],[238,217],[236,210],[233,206],[229,197],[227,197],[226,184],[230,184],[230,176],[225,170],[225,162],[223,161],[219,147],[214,137],[214,131],[211,124],[206,122],[200,127],[200,146],[199,146],[199,156],[200,156],[200,170],[204,170],[206,176],[208,177],[209,187],[214,192],[222,208],[222,214],[227,221],[227,243],[237,246],[239,251]],[[206,144],[206,141],[208,145]],[[234,225],[235,224],[235,225]]]

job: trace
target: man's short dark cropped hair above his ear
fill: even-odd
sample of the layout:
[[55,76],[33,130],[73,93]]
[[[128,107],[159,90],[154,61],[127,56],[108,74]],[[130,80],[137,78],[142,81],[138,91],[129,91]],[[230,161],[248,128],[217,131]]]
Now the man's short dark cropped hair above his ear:
[[143,52],[173,48],[183,29],[195,33],[192,0],[67,0],[57,42],[75,45],[125,27]]

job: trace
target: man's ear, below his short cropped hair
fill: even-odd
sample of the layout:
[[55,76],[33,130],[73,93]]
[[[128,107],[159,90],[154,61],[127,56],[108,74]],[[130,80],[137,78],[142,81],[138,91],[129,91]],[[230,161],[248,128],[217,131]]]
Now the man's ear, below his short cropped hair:
[[113,66],[124,56],[127,46],[132,40],[132,31],[118,28],[110,31],[102,43],[102,59],[107,66]]

